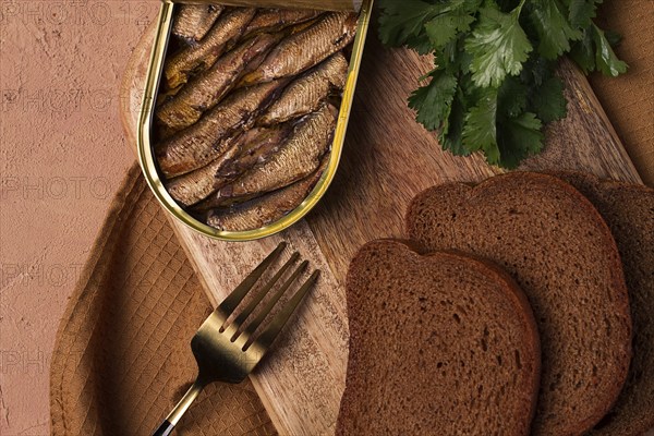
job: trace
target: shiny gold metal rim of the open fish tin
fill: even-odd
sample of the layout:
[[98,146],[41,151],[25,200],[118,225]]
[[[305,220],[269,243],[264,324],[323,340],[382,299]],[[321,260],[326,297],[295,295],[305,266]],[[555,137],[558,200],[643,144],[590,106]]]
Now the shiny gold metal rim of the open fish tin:
[[[272,3],[270,3],[272,1]],[[351,1],[351,0],[350,0]],[[255,3],[259,3],[262,7],[269,8],[270,5],[280,5],[280,3],[286,4],[282,0],[261,0],[254,1]],[[295,4],[311,4],[314,9],[337,9],[337,3],[348,2],[348,0],[330,0],[327,1],[327,4],[324,8],[316,8],[316,3],[318,2],[300,2],[289,1],[294,7]],[[194,1],[189,1],[187,3],[196,3]],[[213,3],[211,1],[205,3]],[[216,3],[221,3],[219,0]],[[227,0],[223,2],[225,4],[241,4],[252,7],[252,2],[249,0]],[[368,29],[373,0],[364,0],[361,2],[360,11],[359,11],[359,21],[356,27],[356,35],[354,41],[352,43],[351,57],[349,62],[349,70],[347,75],[346,85],[342,92],[342,99],[340,105],[340,110],[338,114],[338,120],[336,123],[336,131],[334,133],[334,140],[331,143],[331,147],[327,152],[329,155],[329,159],[327,162],[327,167],[323,172],[319,181],[316,183],[314,189],[310,192],[306,198],[292,211],[284,215],[279,220],[266,225],[258,229],[246,230],[246,231],[226,231],[218,230],[214,227],[210,227],[201,220],[193,217],[190,213],[184,210],[168,193],[165,186],[165,181],[161,174],[159,173],[157,158],[154,152],[153,144],[153,125],[154,125],[154,112],[155,106],[157,101],[157,96],[159,92],[159,84],[161,81],[161,76],[164,73],[164,64],[167,58],[168,44],[171,35],[171,29],[174,20],[175,9],[179,7],[179,2],[173,2],[170,0],[164,0],[161,3],[161,10],[158,17],[158,26],[154,41],[154,48],[152,52],[150,63],[148,66],[148,74],[146,78],[146,87],[143,97],[143,105],[141,108],[141,118],[138,122],[137,130],[137,146],[138,146],[138,159],[141,162],[141,167],[143,169],[143,173],[145,179],[154,192],[155,196],[161,203],[161,205],[172,214],[175,219],[183,222],[185,226],[191,229],[205,234],[207,237],[225,240],[225,241],[252,241],[265,237],[272,235],[278,233],[300,219],[302,219],[308,211],[320,201],[320,198],[325,195],[327,189],[329,187],[331,181],[334,180],[335,173],[337,171],[341,152],[343,147],[343,142],[346,137],[346,131],[348,128],[348,121],[350,118],[350,111],[352,108],[352,101],[354,97],[354,88],[356,86],[356,81],[359,77],[359,70],[361,66],[361,59],[363,55],[363,48],[365,45],[365,38]],[[343,3],[344,4],[344,3]],[[258,5],[258,4],[256,4]],[[291,5],[291,4],[289,4]],[[342,4],[341,4],[342,5]],[[358,1],[354,1],[353,8],[359,7]]]

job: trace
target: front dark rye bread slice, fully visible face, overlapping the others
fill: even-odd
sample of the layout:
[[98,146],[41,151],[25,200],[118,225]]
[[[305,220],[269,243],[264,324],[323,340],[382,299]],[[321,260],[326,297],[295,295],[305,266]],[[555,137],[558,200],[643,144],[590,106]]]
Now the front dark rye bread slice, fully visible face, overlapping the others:
[[538,334],[506,272],[380,240],[352,261],[347,299],[337,435],[529,435]]

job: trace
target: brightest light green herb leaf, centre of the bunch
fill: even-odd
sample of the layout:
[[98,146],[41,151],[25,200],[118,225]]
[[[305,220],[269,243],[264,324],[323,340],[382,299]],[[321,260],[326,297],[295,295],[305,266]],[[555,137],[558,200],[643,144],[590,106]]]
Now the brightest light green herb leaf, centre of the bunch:
[[507,74],[522,70],[532,46],[518,19],[520,7],[505,14],[497,9],[480,10],[480,23],[465,40],[465,51],[472,57],[472,78],[481,87],[498,87]]

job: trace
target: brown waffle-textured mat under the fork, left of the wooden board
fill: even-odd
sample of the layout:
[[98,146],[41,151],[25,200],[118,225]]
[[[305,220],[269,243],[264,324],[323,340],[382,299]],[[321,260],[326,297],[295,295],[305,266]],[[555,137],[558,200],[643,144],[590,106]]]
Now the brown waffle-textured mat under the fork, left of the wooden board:
[[[152,434],[195,376],[190,340],[210,311],[134,166],[57,335],[51,434]],[[179,435],[276,433],[250,382],[210,385],[177,428]]]

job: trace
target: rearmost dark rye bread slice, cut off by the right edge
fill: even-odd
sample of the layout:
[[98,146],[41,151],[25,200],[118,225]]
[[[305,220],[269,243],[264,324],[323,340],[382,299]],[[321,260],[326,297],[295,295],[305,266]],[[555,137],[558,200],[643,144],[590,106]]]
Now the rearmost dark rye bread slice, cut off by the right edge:
[[633,322],[633,356],[616,404],[593,436],[635,436],[654,427],[654,190],[557,172],[593,203],[618,245]]

